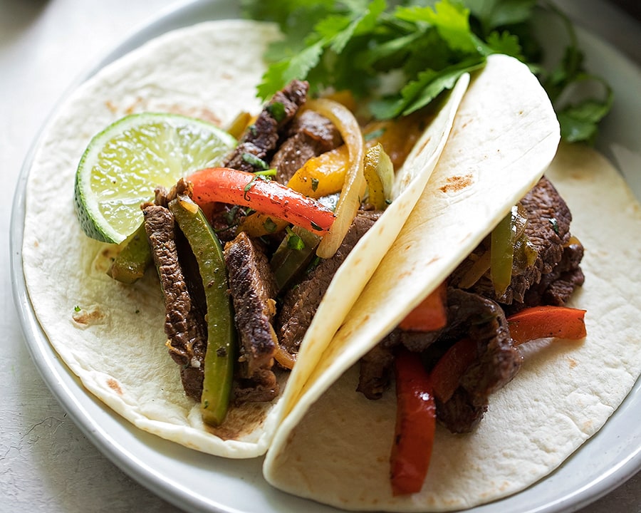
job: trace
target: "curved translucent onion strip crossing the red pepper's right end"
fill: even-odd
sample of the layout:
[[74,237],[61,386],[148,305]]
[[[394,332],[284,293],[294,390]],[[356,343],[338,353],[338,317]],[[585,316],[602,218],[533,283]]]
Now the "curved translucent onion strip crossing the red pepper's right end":
[[343,242],[360,207],[363,194],[365,194],[367,186],[363,175],[365,142],[360,133],[358,121],[345,105],[319,98],[318,100],[309,100],[306,103],[306,108],[316,110],[317,113],[333,123],[343,138],[343,142],[347,145],[350,155],[350,165],[345,173],[345,182],[343,182],[340,199],[338,199],[336,206],[336,219],[316,249],[318,257],[328,259],[333,257],[340,243]]

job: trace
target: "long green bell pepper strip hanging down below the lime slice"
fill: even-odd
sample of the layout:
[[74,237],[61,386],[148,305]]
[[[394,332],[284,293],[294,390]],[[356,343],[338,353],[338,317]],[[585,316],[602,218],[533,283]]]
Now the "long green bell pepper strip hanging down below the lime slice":
[[229,407],[236,359],[236,328],[227,294],[227,274],[218,237],[202,210],[187,196],[173,199],[169,208],[194,252],[207,302],[207,352],[200,400],[202,420],[220,425]]

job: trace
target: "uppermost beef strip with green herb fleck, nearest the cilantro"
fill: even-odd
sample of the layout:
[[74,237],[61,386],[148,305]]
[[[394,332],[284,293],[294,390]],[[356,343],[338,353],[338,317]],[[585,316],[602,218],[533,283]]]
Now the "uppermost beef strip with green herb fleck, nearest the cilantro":
[[279,131],[287,126],[298,108],[306,102],[308,90],[307,82],[294,80],[273,95],[227,159],[226,167],[249,172],[259,171],[259,167],[246,160],[246,153],[269,162],[280,138]]

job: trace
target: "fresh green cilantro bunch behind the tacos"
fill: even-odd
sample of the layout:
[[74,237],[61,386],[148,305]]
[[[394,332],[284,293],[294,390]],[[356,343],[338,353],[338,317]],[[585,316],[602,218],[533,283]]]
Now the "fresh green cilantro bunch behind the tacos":
[[[561,135],[593,142],[612,105],[612,91],[588,73],[568,19],[568,46],[556,68],[541,66],[533,24],[536,0],[241,0],[243,15],[276,22],[284,39],[272,43],[259,86],[269,98],[293,78],[313,92],[351,90],[375,118],[407,115],[475,71],[492,53],[528,63],[556,108]],[[603,93],[563,102],[577,84],[599,83]]]

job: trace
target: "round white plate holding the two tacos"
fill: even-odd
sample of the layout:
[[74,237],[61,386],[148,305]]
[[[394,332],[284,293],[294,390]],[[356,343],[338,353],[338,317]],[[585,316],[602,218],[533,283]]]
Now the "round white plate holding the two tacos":
[[[88,71],[93,75],[133,48],[180,26],[205,19],[237,16],[236,2],[199,0],[179,6],[135,33]],[[600,150],[615,161],[641,197],[641,71],[620,53],[580,33],[591,68],[608,77],[617,103],[603,125]],[[39,138],[38,138],[39,140]],[[34,144],[37,145],[38,140]],[[24,190],[33,151],[21,172],[11,219],[11,266],[16,307],[33,361],[53,395],[84,434],[132,478],[183,509],[197,512],[300,512],[338,510],[279,492],[264,481],[262,459],[224,460],[167,442],[136,429],[92,395],[58,358],[43,334],[26,293],[21,246]],[[575,509],[617,487],[641,469],[641,382],[602,430],[558,470],[514,496],[468,510],[469,513],[553,513]]]

